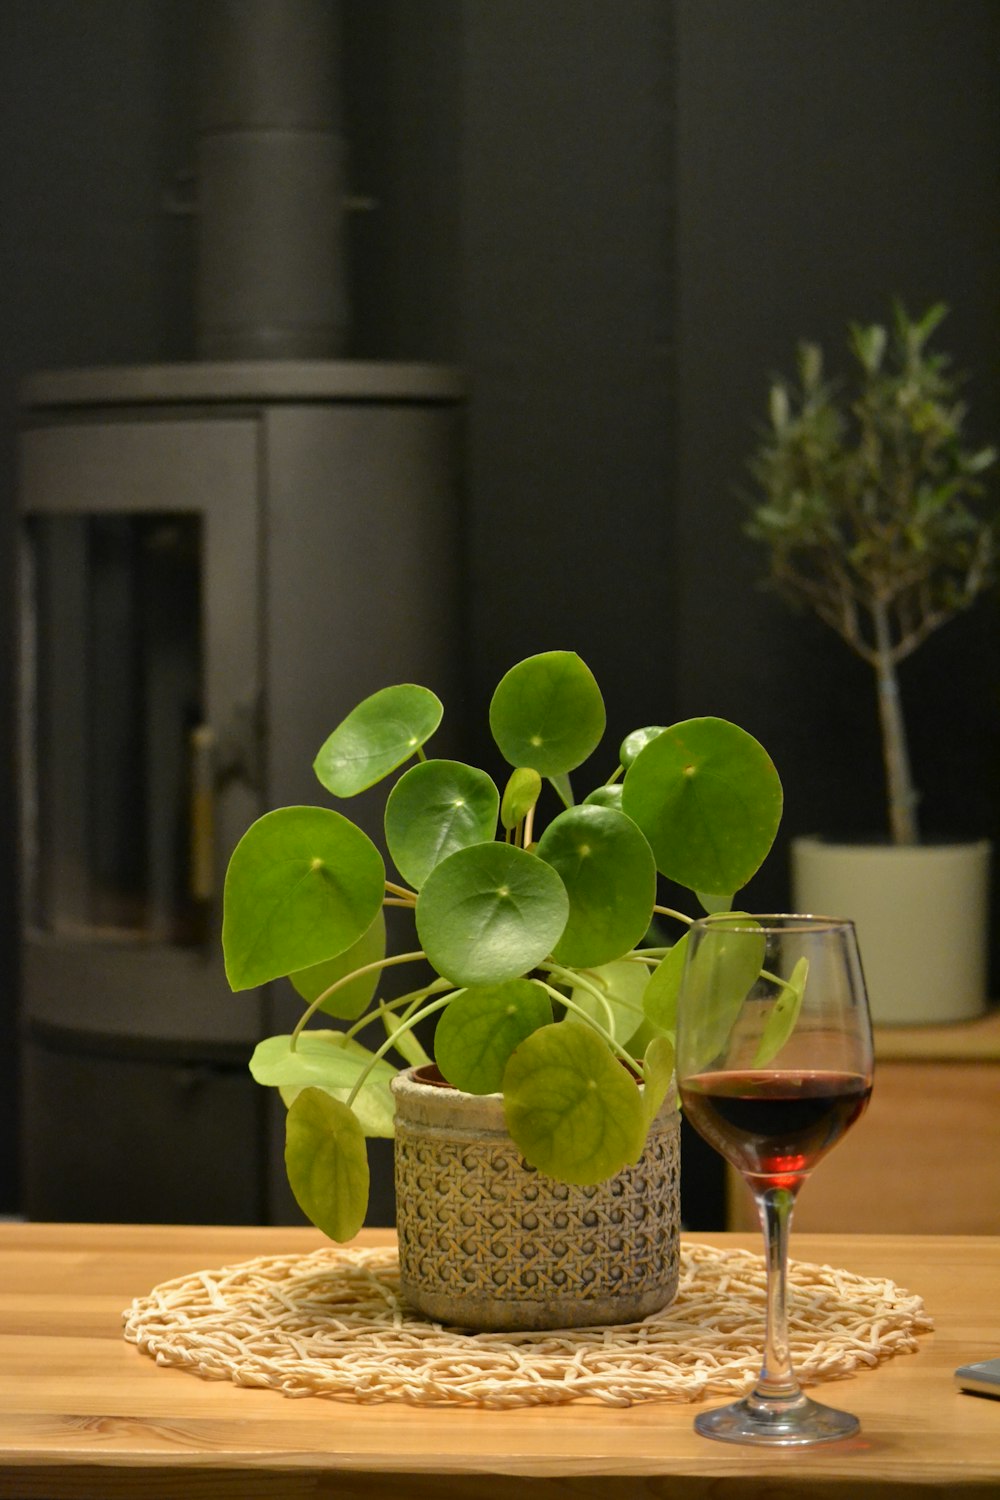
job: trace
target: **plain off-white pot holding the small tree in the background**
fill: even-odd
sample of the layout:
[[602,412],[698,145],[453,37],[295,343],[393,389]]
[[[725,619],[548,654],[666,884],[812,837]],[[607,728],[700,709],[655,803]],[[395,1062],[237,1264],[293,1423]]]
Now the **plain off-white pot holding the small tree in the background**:
[[876,1024],[982,1016],[990,852],[987,840],[916,848],[793,842],[796,910],[855,921]]

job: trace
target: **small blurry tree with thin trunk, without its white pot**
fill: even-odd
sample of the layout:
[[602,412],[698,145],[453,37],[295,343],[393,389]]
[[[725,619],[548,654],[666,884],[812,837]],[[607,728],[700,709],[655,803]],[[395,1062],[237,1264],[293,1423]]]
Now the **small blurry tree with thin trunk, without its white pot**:
[[997,501],[982,476],[997,453],[964,444],[960,382],[928,351],[946,310],[912,320],[895,303],[889,327],[852,324],[850,392],[825,380],[819,345],[799,345],[798,381],[774,381],[750,462],[763,502],[747,531],[768,548],[771,582],[874,670],[900,844],[919,824],[898,666],[996,573]]

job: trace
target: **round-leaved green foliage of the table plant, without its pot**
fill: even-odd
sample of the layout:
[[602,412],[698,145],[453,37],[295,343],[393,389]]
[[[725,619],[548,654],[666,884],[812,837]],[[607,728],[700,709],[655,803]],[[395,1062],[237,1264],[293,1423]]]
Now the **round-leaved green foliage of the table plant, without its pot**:
[[[441,718],[430,690],[387,687],[315,760],[336,798],[414,760],[385,800],[394,878],[367,834],[328,807],[265,813],[226,873],[229,984],[288,976],[306,1002],[294,1034],[262,1041],[250,1071],[282,1092],[292,1192],[333,1239],[364,1221],[366,1136],[393,1134],[390,1056],[427,1064],[415,1028],[432,1016],[441,1074],[502,1094],[531,1166],[594,1184],[636,1161],[670,1088],[685,951],[684,936],[664,946],[651,926],[657,914],[693,920],[658,904],[657,873],[724,912],[781,818],[769,756],[721,718],[636,730],[607,780],[576,802],[570,772],[597,750],[606,716],[591,670],[568,651],[520,662],[493,694],[490,729],[511,766],[502,794],[486,771],[427,758]],[[562,808],[540,831],[544,783]],[[385,952],[385,906],[412,912],[411,951]],[[376,999],[379,976],[409,963],[421,964],[420,987]],[[742,998],[744,976],[733,986]],[[712,993],[723,1004],[718,984]],[[339,1026],[307,1028],[316,1012]],[[363,1046],[372,1024],[382,1040]]]

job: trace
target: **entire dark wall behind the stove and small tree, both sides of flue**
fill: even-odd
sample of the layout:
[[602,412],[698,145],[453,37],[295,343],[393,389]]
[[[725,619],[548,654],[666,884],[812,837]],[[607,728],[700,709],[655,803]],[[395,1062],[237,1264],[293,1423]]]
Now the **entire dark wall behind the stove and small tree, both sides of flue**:
[[[15,384],[187,358],[195,0],[9,0],[0,50],[0,1208],[13,1174]],[[772,369],[943,297],[1000,429],[996,0],[345,0],[351,352],[469,376],[468,706],[580,650],[613,735],[723,712],[787,831],[880,819],[864,669],[756,588],[735,489]],[[907,672],[928,826],[1000,832],[996,618]],[[474,714],[474,722],[475,722]],[[754,892],[786,898],[783,850]]]

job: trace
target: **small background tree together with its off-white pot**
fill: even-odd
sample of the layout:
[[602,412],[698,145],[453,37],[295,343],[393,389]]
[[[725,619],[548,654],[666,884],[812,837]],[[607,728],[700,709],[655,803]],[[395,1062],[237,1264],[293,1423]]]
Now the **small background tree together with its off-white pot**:
[[[858,921],[876,1020],[979,1014],[987,996],[990,844],[921,844],[900,664],[993,582],[997,498],[991,447],[964,441],[966,410],[930,340],[943,304],[889,326],[850,326],[856,382],[825,378],[802,344],[798,381],[771,387],[769,426],[750,468],[747,524],[769,580],[813,610],[873,670],[888,844],[793,842],[795,904]],[[954,944],[948,944],[948,938]]]

